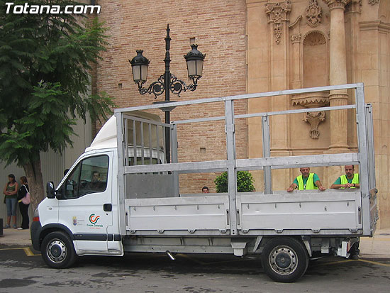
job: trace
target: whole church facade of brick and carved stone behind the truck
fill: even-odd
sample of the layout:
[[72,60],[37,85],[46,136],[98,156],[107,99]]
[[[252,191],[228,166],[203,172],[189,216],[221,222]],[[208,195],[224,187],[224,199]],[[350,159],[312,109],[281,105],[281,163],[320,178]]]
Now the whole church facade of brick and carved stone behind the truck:
[[[195,92],[172,101],[364,82],[374,113],[379,226],[390,227],[390,1],[388,0],[101,0],[99,20],[110,45],[93,76],[93,90],[114,96],[118,107],[156,101],[140,95],[129,59],[144,50],[150,62],[147,85],[164,72],[165,28],[171,28],[171,72],[186,80],[183,55],[191,43],[206,53]],[[188,81],[189,83],[189,81]],[[162,101],[160,96],[157,101]],[[350,91],[251,99],[235,114],[351,104]],[[171,120],[223,115],[223,104],[172,111]],[[334,113],[333,113],[334,112]],[[357,150],[355,112],[311,112],[272,118],[271,155],[348,153]],[[162,112],[155,112],[161,114]],[[237,157],[262,157],[258,118],[239,119]],[[206,134],[205,134],[206,133]],[[179,160],[224,160],[223,123],[201,123],[179,131]],[[316,167],[325,187],[341,167]],[[262,190],[261,172],[253,172]],[[299,170],[273,170],[273,189],[286,189]],[[181,192],[215,190],[216,174],[181,175]]]

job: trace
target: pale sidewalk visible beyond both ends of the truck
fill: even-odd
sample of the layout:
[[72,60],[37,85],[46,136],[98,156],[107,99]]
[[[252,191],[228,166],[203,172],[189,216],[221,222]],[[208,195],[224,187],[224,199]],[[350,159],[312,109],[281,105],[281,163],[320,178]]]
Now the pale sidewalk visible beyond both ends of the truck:
[[[0,245],[31,246],[30,229],[4,229],[4,236],[0,236]],[[361,258],[388,258],[390,259],[390,228],[375,231],[374,237],[360,238]]]

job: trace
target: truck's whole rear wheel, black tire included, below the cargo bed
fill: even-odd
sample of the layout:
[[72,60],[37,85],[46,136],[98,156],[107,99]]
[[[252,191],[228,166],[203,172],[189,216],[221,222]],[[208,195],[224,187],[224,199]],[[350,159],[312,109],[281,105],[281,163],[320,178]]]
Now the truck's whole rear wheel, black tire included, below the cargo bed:
[[308,253],[294,238],[273,238],[264,246],[262,267],[276,282],[295,282],[307,270]]

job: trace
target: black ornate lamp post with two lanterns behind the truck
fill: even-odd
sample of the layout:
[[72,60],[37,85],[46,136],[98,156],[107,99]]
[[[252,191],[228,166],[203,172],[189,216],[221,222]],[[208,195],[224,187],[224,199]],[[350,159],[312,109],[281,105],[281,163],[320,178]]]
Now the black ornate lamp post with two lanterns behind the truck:
[[[131,68],[133,70],[133,79],[136,84],[138,84],[138,92],[140,94],[154,94],[155,99],[157,96],[165,93],[165,101],[157,102],[157,103],[167,103],[169,102],[169,94],[172,92],[173,94],[177,94],[180,96],[181,92],[186,92],[186,90],[190,90],[194,92],[198,85],[198,80],[202,77],[203,71],[203,62],[206,54],[202,54],[198,50],[198,45],[191,45],[191,51],[189,51],[186,55],[184,55],[184,59],[187,63],[187,71],[188,77],[192,80],[193,84],[186,85],[180,79],[174,76],[169,71],[169,63],[171,62],[169,49],[171,38],[169,37],[169,24],[167,25],[167,37],[165,38],[165,72],[161,75],[157,82],[152,82],[149,87],[143,87],[143,84],[147,79],[147,67],[149,66],[150,60],[148,60],[145,56],[143,56],[143,50],[137,50],[137,55],[133,57],[130,61]],[[165,123],[170,123],[169,107],[162,107],[162,111],[165,111]],[[167,153],[167,162],[170,162],[170,139],[169,139],[169,129],[165,128],[165,150]]]

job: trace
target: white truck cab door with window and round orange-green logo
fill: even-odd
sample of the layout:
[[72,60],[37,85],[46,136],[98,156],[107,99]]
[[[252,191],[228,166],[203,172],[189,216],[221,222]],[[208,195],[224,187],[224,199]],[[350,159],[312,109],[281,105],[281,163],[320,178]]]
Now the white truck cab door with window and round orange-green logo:
[[108,243],[118,231],[112,227],[112,168],[113,152],[84,157],[60,187],[59,223],[72,231],[78,255],[121,254]]

